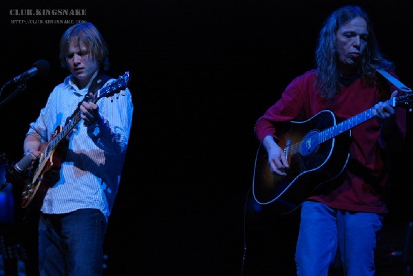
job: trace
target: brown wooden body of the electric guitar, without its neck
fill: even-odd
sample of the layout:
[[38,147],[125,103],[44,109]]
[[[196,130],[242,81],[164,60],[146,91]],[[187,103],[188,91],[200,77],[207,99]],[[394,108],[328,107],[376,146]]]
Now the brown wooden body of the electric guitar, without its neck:
[[[53,137],[56,137],[61,130],[61,126],[57,127]],[[52,141],[53,140],[51,140],[51,142]],[[40,145],[39,151],[41,151],[42,156],[47,156],[46,149],[49,144],[50,142],[44,142]],[[34,171],[33,177],[30,178],[31,181],[28,180],[23,187],[21,197],[21,206],[23,208],[32,206],[35,209],[39,209],[41,207],[47,189],[52,185],[56,172],[61,169],[65,152],[64,147],[65,146],[61,144],[50,151],[49,158],[45,158],[44,160],[41,158],[38,160],[38,167]]]

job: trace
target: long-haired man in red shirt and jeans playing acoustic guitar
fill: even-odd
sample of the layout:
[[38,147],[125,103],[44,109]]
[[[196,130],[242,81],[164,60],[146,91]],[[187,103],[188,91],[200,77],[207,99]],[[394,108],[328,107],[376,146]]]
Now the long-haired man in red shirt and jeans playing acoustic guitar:
[[[301,203],[295,253],[298,276],[327,276],[337,251],[345,275],[372,276],[377,233],[388,213],[382,193],[389,180],[385,158],[401,149],[406,132],[405,109],[387,100],[402,92],[378,72],[396,78],[393,63],[379,50],[369,15],[358,6],[339,8],[326,19],[319,32],[315,62],[317,67],[295,78],[257,120],[255,134],[268,153],[272,173],[288,179],[300,165],[306,166],[306,152],[293,160],[299,165],[292,170],[289,152],[279,146],[281,125],[305,122],[326,110],[343,120],[372,110],[371,120],[351,128],[342,171]],[[310,142],[303,148],[317,151],[313,145],[315,148],[310,148]]]

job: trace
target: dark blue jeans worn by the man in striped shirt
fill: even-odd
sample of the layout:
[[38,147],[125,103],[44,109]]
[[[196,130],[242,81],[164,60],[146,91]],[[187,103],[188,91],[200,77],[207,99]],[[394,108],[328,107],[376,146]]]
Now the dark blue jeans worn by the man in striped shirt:
[[106,218],[97,209],[80,209],[39,219],[41,276],[102,276]]

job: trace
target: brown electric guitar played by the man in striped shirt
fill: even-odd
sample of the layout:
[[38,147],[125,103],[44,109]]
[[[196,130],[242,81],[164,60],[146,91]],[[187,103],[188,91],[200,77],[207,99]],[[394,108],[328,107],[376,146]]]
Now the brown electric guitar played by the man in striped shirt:
[[[129,81],[129,72],[125,72],[123,76],[119,76],[116,81],[109,83],[105,87],[99,89],[94,98],[89,102],[96,103],[97,100],[103,97],[109,97],[113,94],[119,93],[122,89],[125,89]],[[41,151],[41,158],[35,161],[37,163],[36,169],[31,173],[32,177],[23,186],[23,192],[21,197],[21,206],[23,208],[34,207],[39,209],[43,203],[43,199],[53,182],[56,172],[61,169],[61,163],[63,162],[64,147],[63,140],[67,134],[76,127],[81,120],[81,112],[77,112],[72,120],[62,127],[56,127],[52,140],[50,142],[44,142],[40,145],[39,151]],[[35,167],[35,166],[34,166]],[[31,179],[31,180],[30,180]]]

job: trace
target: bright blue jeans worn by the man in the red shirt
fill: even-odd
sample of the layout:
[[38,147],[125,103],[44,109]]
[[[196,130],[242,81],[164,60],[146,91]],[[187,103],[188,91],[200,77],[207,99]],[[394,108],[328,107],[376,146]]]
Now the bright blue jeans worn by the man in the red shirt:
[[319,202],[303,202],[295,252],[297,275],[327,276],[337,248],[344,275],[374,275],[374,250],[382,225],[383,215],[377,213],[350,212]]

